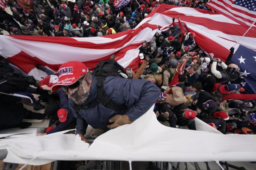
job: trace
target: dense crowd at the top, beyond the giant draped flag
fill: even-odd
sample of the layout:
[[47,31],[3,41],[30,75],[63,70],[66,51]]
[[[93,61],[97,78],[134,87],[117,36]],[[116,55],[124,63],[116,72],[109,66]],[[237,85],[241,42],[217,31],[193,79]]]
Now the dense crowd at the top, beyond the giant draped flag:
[[[12,15],[0,8],[0,29],[10,35],[96,37],[134,29],[161,3],[207,9],[205,0],[133,0],[121,9],[115,9],[113,0],[56,0],[50,4],[34,0],[34,12],[9,0]],[[20,24],[18,24],[18,21]]]

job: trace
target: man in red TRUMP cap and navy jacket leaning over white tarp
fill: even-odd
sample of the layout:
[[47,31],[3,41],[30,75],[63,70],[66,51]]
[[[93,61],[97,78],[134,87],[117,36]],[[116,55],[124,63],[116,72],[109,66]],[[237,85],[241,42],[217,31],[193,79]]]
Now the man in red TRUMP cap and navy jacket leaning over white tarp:
[[93,128],[109,130],[123,124],[131,124],[157,101],[160,89],[150,81],[126,79],[116,76],[105,78],[105,95],[122,109],[110,109],[101,102],[93,107],[83,106],[97,100],[97,78],[88,72],[87,67],[78,61],[70,61],[60,66],[59,80],[51,88],[63,89],[69,95],[70,108],[76,117],[76,133],[86,141],[84,134],[88,124]]

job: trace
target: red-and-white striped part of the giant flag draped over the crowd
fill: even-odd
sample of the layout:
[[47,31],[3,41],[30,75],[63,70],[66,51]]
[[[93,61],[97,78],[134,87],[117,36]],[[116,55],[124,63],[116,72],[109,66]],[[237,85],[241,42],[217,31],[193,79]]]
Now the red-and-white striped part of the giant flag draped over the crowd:
[[[81,61],[94,68],[100,61],[116,55],[116,60],[124,67],[136,70],[139,48],[143,41],[150,41],[158,28],[164,29],[172,23],[172,17],[186,24],[195,32],[195,41],[206,52],[213,52],[216,58],[226,60],[230,47],[236,42],[256,49],[256,29],[250,29],[242,37],[248,26],[241,25],[222,14],[202,9],[157,6],[140,24],[132,30],[103,37],[34,37],[0,36],[0,55],[35,78],[45,73],[35,68],[37,63],[57,70],[61,63]],[[235,51],[239,45],[235,46]]]

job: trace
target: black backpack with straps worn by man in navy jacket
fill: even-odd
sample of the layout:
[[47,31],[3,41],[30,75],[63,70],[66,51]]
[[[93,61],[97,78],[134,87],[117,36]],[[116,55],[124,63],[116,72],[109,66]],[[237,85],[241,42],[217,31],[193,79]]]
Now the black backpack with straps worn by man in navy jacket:
[[[95,69],[92,72],[92,75],[96,76],[98,80],[97,84],[97,98],[95,101],[92,101],[89,104],[81,104],[81,105],[75,105],[74,109],[76,112],[78,112],[80,109],[90,109],[95,107],[97,104],[102,103],[104,107],[107,107],[108,109],[113,110],[122,110],[126,109],[125,105],[117,105],[111,99],[106,95],[104,90],[104,81],[105,78],[108,76],[118,76],[122,77],[122,75],[119,74],[125,74],[125,69],[119,65],[115,60],[106,60],[106,61],[100,61],[99,65],[96,65]],[[122,77],[123,78],[123,77]]]

